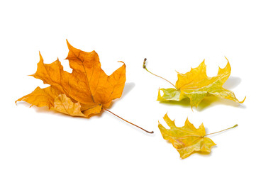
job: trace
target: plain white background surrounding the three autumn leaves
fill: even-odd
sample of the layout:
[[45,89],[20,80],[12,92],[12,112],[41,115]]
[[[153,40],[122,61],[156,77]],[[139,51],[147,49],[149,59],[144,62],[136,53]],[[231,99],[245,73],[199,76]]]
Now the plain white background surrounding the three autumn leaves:
[[[1,1],[0,169],[255,169],[255,1]],[[70,44],[98,52],[111,74],[126,63],[123,96],[110,110],[154,130],[150,135],[104,112],[72,118],[46,108],[15,104],[43,81],[35,73],[40,50],[45,63],[57,60],[71,72]],[[189,101],[159,103],[158,88],[172,87],[178,72],[204,59],[213,77],[230,61],[224,87],[244,104],[206,98],[191,111]],[[168,112],[178,126],[189,118],[211,135],[211,154],[180,159],[163,140],[158,121]]]

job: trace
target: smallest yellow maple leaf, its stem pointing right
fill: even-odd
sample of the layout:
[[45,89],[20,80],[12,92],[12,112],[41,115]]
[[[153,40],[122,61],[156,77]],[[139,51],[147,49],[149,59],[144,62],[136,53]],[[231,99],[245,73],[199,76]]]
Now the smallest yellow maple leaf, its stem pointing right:
[[[217,132],[206,134],[203,123],[196,129],[188,119],[183,127],[177,127],[174,120],[170,120],[167,114],[165,114],[164,120],[169,126],[169,129],[166,129],[159,123],[158,128],[162,133],[162,137],[172,143],[182,159],[189,157],[189,155],[194,152],[208,154],[211,152],[211,147],[216,145],[210,138],[206,137],[206,135],[212,135]],[[235,128],[236,126],[238,125],[234,125],[231,128]],[[218,132],[223,131],[224,130]]]

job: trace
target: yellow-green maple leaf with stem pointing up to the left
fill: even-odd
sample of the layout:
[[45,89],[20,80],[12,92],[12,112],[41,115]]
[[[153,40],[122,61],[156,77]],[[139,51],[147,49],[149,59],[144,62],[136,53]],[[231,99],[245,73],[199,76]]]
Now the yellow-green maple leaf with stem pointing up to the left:
[[[145,67],[145,61],[143,68],[148,71],[148,69]],[[178,72],[178,80],[175,86],[168,81],[175,88],[159,89],[157,101],[182,101],[184,98],[189,98],[191,108],[193,108],[194,106],[197,107],[204,97],[217,96],[227,98],[238,103],[243,103],[246,97],[243,99],[243,101],[238,101],[233,91],[223,88],[223,84],[230,76],[230,72],[231,67],[228,62],[226,67],[223,69],[219,67],[216,77],[207,77],[206,64],[204,64],[203,61],[199,67],[194,69],[191,68],[190,72],[187,72],[186,74],[181,74]],[[152,74],[152,72],[150,73]],[[156,74],[154,75],[157,76]],[[167,81],[167,79],[165,80]],[[160,91],[163,92],[163,95],[160,94]]]

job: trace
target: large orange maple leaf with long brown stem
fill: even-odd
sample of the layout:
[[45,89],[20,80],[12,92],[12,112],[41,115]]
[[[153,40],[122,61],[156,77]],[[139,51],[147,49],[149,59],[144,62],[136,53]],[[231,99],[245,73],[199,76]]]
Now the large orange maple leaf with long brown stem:
[[69,60],[72,73],[64,71],[58,59],[45,64],[39,53],[38,69],[31,76],[50,86],[44,89],[37,87],[17,101],[26,101],[31,106],[48,106],[50,110],[85,118],[101,113],[102,109],[108,111],[112,100],[122,95],[126,82],[126,64],[122,62],[123,65],[108,76],[101,69],[99,56],[95,51],[84,52],[72,47],[68,41],[67,47],[69,53],[66,60]]

